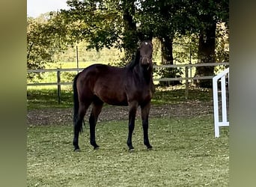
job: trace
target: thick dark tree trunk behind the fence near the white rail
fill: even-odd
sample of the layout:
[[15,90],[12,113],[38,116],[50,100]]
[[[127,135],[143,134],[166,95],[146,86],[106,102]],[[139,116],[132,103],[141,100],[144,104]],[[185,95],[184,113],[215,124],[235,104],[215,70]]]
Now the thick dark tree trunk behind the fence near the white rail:
[[[216,23],[213,22],[208,28],[202,29],[198,40],[198,64],[215,63],[215,40]],[[213,76],[214,67],[197,67],[195,76]],[[201,88],[212,88],[212,80],[197,80],[195,85]]]

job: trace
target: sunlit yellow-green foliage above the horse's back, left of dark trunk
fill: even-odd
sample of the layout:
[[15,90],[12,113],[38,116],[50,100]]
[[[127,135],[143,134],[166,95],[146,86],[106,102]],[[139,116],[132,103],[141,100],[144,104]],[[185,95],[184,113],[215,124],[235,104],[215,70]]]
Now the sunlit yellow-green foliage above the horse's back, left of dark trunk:
[[118,1],[67,1],[70,10],[61,10],[60,16],[69,25],[77,41],[87,40],[88,49],[110,48],[121,37],[121,13]]

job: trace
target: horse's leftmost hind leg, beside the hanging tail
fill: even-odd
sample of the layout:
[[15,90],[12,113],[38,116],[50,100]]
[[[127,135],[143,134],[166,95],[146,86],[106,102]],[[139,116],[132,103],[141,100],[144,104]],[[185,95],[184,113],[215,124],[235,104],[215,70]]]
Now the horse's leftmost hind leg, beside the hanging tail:
[[82,120],[84,120],[85,113],[89,108],[90,104],[91,103],[88,103],[88,104],[79,103],[79,112],[76,116],[76,120],[74,120],[74,138],[73,138],[74,151],[80,151],[79,132],[82,132]]

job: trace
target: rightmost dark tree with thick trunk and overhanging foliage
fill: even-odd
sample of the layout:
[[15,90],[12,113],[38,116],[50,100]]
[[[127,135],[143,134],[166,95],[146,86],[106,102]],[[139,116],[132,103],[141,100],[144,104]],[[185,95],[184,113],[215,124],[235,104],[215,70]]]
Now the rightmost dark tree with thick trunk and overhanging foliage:
[[[228,23],[228,1],[198,1],[195,16],[198,20],[198,63],[216,62],[216,24]],[[213,76],[214,67],[197,67],[195,76]],[[212,88],[210,80],[198,80],[197,85],[202,88]]]

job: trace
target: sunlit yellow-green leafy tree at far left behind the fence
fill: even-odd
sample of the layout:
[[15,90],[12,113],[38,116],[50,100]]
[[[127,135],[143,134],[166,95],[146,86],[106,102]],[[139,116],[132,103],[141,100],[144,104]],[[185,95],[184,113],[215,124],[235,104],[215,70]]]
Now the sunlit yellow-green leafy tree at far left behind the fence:
[[[27,18],[27,68],[43,69],[55,52],[67,47],[71,39],[67,28],[55,13],[46,13],[37,19]],[[40,74],[28,73],[28,79]]]

